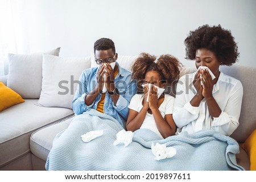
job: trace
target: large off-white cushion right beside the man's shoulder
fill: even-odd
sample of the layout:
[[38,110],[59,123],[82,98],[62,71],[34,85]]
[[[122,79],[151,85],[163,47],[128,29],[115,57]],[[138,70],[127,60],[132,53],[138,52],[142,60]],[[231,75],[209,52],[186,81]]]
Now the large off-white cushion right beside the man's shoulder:
[[79,77],[90,67],[90,57],[64,58],[43,55],[43,82],[38,104],[72,109]]

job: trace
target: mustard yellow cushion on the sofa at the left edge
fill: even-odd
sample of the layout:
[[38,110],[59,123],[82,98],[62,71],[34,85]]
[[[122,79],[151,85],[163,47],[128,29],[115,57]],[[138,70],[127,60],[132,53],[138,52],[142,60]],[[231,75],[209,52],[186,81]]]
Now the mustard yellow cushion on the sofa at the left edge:
[[0,82],[0,112],[19,103],[23,103],[22,97]]

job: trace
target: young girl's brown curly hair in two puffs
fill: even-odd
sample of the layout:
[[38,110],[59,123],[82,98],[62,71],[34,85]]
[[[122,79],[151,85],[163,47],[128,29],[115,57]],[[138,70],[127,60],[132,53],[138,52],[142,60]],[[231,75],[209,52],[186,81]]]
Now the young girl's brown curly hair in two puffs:
[[162,82],[171,84],[173,81],[179,79],[181,63],[177,58],[171,54],[161,55],[158,60],[156,56],[148,53],[139,54],[131,67],[132,78],[138,81],[138,87],[141,87],[145,75],[148,71],[157,71]]

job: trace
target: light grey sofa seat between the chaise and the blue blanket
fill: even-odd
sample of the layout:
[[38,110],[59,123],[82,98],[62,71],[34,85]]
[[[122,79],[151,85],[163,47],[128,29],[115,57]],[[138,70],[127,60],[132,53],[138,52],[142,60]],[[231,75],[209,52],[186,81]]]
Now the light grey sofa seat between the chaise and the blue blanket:
[[31,153],[46,161],[56,134],[63,131],[64,129],[67,129],[72,120],[73,117],[67,118],[62,122],[47,126],[32,133],[30,137]]

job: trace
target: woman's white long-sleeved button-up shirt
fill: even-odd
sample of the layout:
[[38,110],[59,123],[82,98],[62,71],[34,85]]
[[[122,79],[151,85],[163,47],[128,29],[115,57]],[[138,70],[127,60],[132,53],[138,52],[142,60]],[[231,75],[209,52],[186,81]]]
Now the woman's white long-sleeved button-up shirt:
[[203,129],[213,129],[230,136],[239,125],[243,87],[240,81],[220,73],[218,81],[213,86],[212,95],[221,109],[219,117],[211,117],[208,105],[203,99],[199,107],[190,104],[196,95],[193,79],[196,73],[184,75],[179,79],[174,104],[174,118],[177,133],[186,131],[189,134]]

